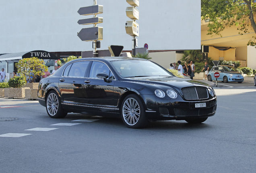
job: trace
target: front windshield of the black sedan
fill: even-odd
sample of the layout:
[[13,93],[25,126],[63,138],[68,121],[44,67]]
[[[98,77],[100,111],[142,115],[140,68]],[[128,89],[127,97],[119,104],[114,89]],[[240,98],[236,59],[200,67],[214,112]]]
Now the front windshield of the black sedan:
[[122,77],[173,76],[161,66],[145,60],[119,60],[111,62]]

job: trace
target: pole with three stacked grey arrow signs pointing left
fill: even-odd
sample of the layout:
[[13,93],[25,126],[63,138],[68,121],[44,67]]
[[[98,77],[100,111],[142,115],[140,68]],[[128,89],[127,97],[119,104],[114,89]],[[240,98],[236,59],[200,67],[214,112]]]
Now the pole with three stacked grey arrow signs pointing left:
[[103,18],[98,18],[96,15],[103,13],[103,6],[97,5],[97,0],[93,0],[93,6],[81,7],[77,12],[83,16],[93,14],[93,18],[78,20],[78,24],[93,24],[93,27],[83,28],[77,36],[82,41],[93,41],[93,57],[97,57],[96,48],[100,48],[100,42],[97,40],[103,39],[103,27],[97,27],[97,24],[102,23]]

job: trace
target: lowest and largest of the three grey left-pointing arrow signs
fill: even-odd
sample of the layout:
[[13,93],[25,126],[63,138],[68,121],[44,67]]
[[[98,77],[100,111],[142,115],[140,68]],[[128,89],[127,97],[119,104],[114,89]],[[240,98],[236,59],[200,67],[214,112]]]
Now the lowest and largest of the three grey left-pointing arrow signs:
[[77,36],[82,41],[102,40],[103,39],[103,28],[102,27],[83,28],[77,34]]

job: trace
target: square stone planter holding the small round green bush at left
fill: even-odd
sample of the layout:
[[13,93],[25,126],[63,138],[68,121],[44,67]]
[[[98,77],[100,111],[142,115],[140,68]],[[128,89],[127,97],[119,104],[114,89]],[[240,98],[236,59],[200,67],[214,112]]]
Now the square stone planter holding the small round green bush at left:
[[28,87],[5,88],[4,89],[4,97],[7,97],[9,99],[25,98],[25,89],[29,89],[29,88]]

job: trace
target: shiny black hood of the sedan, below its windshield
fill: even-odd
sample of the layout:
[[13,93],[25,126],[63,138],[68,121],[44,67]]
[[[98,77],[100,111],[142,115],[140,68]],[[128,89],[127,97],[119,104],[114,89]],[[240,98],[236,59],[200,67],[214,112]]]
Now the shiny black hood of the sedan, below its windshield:
[[183,88],[183,87],[191,87],[195,85],[199,86],[208,86],[209,84],[206,84],[204,82],[186,79],[186,78],[179,78],[179,77],[166,77],[166,76],[147,76],[147,77],[132,77],[129,78],[130,80],[133,80],[133,82],[143,82],[143,83],[149,83],[149,84],[159,84],[159,85],[165,85],[170,86],[174,88]]

